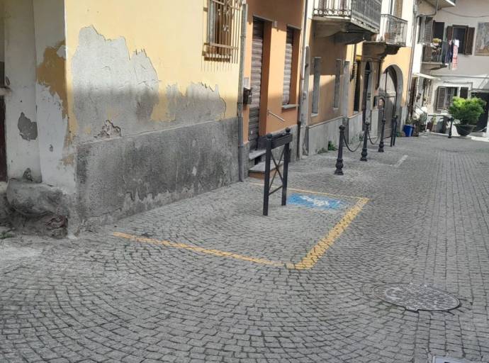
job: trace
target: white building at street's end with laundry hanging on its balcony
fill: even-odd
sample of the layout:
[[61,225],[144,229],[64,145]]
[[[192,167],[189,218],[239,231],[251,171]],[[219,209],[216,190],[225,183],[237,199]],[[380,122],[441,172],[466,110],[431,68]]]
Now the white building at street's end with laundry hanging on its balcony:
[[[477,96],[489,104],[489,8],[476,0],[423,2],[413,67],[412,110],[444,131],[454,96]],[[454,51],[456,46],[456,51]],[[488,106],[476,131],[486,131]]]

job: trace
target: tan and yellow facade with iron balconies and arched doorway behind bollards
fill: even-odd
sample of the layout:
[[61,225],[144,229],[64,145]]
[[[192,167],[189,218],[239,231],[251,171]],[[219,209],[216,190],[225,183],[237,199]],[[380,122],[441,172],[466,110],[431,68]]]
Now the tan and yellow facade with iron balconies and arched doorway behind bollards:
[[398,128],[405,122],[413,7],[412,0],[310,1],[305,153],[338,145],[342,124],[354,143],[366,122],[372,137],[383,118],[387,137],[394,116]]

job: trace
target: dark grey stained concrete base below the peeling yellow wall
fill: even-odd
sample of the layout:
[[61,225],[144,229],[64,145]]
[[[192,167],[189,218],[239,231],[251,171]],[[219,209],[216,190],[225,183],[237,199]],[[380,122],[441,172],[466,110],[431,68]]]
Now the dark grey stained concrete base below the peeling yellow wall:
[[106,223],[237,181],[237,119],[77,147],[79,216]]

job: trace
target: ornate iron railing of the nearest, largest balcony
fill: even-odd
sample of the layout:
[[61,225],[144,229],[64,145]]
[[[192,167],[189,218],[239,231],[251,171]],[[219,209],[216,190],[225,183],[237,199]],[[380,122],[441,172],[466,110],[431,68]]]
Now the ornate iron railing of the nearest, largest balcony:
[[378,33],[381,6],[381,0],[315,0],[314,16],[344,19],[372,33]]

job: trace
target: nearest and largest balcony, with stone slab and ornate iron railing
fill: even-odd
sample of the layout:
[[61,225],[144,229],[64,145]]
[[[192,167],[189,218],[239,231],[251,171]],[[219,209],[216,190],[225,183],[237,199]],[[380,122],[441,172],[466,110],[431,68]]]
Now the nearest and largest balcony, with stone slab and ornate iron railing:
[[[381,26],[381,0],[314,0],[313,19],[320,26],[343,33],[378,33]],[[332,29],[336,26],[336,29]]]

